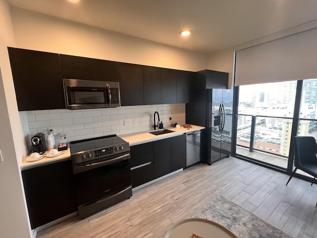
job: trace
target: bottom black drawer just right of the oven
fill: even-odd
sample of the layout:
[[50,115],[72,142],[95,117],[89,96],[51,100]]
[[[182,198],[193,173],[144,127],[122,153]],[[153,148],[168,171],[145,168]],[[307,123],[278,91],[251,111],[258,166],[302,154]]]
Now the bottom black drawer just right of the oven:
[[154,164],[131,170],[132,187],[140,186],[154,179]]

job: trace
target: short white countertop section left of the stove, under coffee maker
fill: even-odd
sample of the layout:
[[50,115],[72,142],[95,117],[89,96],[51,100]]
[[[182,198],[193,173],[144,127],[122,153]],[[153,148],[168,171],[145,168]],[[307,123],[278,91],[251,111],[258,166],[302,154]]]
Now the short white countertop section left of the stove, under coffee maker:
[[[46,151],[45,154],[48,155],[49,152]],[[44,156],[42,159],[40,159],[38,161],[28,162],[28,161],[26,161],[27,158],[28,158],[28,156],[25,156],[25,158],[23,158],[23,161],[20,164],[21,170],[31,169],[31,168],[35,168],[35,167],[43,166],[43,165],[49,165],[49,164],[53,164],[57,161],[61,162],[63,160],[70,160],[70,149],[68,146],[67,150],[63,150],[63,153],[61,155],[58,155],[56,157],[51,157],[51,158]]]

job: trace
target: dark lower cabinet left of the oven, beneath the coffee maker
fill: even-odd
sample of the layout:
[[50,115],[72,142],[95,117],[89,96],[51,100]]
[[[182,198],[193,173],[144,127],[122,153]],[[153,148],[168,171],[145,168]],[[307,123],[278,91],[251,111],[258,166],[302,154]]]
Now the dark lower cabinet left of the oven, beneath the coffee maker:
[[77,211],[70,160],[21,173],[32,229]]

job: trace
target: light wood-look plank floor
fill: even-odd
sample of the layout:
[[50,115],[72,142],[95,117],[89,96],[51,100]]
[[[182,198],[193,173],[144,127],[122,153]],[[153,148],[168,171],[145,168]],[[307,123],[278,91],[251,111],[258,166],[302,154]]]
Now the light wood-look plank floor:
[[199,164],[133,193],[87,219],[77,217],[37,238],[159,238],[222,194],[294,238],[317,238],[317,184],[234,157]]

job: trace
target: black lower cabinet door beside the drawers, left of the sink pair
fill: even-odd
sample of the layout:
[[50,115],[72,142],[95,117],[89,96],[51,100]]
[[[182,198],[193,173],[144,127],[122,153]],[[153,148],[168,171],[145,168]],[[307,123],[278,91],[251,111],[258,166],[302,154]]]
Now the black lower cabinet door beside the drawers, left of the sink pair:
[[154,141],[154,177],[155,179],[171,172],[170,138]]

